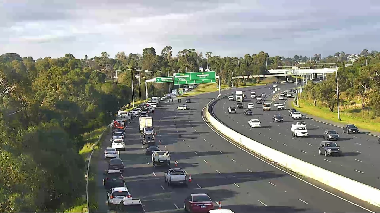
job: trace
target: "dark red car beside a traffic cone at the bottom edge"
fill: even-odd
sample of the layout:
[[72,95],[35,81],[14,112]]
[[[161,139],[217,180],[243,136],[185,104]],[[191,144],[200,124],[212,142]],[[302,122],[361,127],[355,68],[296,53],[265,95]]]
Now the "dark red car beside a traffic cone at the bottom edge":
[[185,211],[209,212],[214,209],[214,202],[207,194],[190,194],[184,202]]

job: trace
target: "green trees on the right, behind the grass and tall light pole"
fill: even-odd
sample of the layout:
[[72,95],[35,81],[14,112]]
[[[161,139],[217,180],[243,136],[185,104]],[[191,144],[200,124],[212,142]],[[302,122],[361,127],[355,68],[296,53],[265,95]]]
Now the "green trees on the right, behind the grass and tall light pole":
[[[353,66],[340,66],[337,73],[327,74],[326,80],[321,83],[309,83],[305,86],[305,99],[318,102],[329,108],[329,111],[337,107],[337,83],[340,106],[352,104],[358,101],[361,110],[371,112],[374,119],[380,115],[380,53],[363,54],[353,63]],[[353,100],[349,103],[348,101]]]

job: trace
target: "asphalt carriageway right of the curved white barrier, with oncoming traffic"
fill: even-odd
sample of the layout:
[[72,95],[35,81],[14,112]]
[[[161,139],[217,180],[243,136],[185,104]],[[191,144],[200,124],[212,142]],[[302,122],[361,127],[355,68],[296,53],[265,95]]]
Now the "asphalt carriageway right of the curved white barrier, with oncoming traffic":
[[[294,87],[295,85],[282,86],[281,90]],[[272,90],[264,88],[254,91],[256,91],[256,94],[261,92],[271,94]],[[236,114],[228,114],[227,108],[230,105],[236,105],[236,103],[228,101],[227,97],[215,103],[213,107],[215,116],[233,130],[266,146],[350,179],[380,188],[380,164],[378,164],[380,160],[378,150],[380,150],[380,147],[377,144],[377,137],[367,135],[365,132],[360,132],[357,135],[347,135],[343,133],[342,128],[303,118],[302,121],[306,122],[310,136],[297,139],[292,137],[290,131],[291,124],[296,121],[291,119],[287,110],[277,111],[274,108],[274,101],[271,101],[272,96],[266,98],[266,102],[272,102],[272,111],[264,112],[261,104],[258,105],[255,100],[249,98],[250,91],[247,91],[246,94],[248,99],[244,101],[244,107],[247,107],[247,103],[253,102],[255,105],[255,108],[252,109],[253,116],[244,116],[244,109],[237,109]],[[275,102],[292,101],[288,100],[285,97],[285,100],[276,99]],[[285,104],[290,105],[290,103]],[[284,118],[283,123],[272,122],[272,117],[277,114]],[[249,128],[248,121],[252,118],[260,119],[262,127]],[[327,129],[333,129],[340,133],[340,140],[337,141],[337,144],[342,148],[344,156],[324,157],[318,154],[318,145],[320,141],[323,141],[323,132]]]

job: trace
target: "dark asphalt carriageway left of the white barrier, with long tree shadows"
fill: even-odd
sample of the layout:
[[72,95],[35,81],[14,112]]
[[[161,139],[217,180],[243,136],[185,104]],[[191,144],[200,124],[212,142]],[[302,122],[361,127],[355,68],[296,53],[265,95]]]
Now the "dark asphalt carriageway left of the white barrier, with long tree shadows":
[[[229,92],[231,90],[222,91],[223,94]],[[187,188],[166,185],[167,168],[154,168],[150,156],[144,155],[138,119],[126,128],[127,147],[120,152],[125,165],[125,183],[132,197],[142,200],[147,212],[183,211],[184,199],[191,193],[207,193],[215,201],[215,208],[217,202],[221,202],[223,208],[235,212],[368,212],[261,161],[213,132],[204,123],[201,111],[217,94],[192,97],[189,111],[177,111],[178,103],[161,102],[152,115],[156,140],[161,150],[171,153],[171,166],[177,161],[178,167],[192,177]],[[104,161],[99,164],[100,171],[106,168]],[[101,190],[101,182],[98,187],[99,210],[104,211],[106,191]]]

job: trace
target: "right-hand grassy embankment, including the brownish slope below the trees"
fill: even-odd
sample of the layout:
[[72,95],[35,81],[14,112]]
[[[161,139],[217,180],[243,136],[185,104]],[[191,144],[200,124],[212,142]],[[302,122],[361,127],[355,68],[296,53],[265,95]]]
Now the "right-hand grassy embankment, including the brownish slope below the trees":
[[[344,94],[342,95],[342,99],[344,99]],[[312,101],[307,99],[299,99],[298,104],[300,106],[298,110],[310,116],[317,116],[322,119],[337,122],[342,124],[342,126],[350,123],[355,124],[358,128],[380,132],[380,118],[374,116],[370,110],[362,110],[360,101],[358,100],[344,99],[342,103],[340,103],[339,111],[342,121],[338,121],[336,107],[334,108],[334,112],[330,112],[324,103],[317,101],[317,107],[315,107]]]

